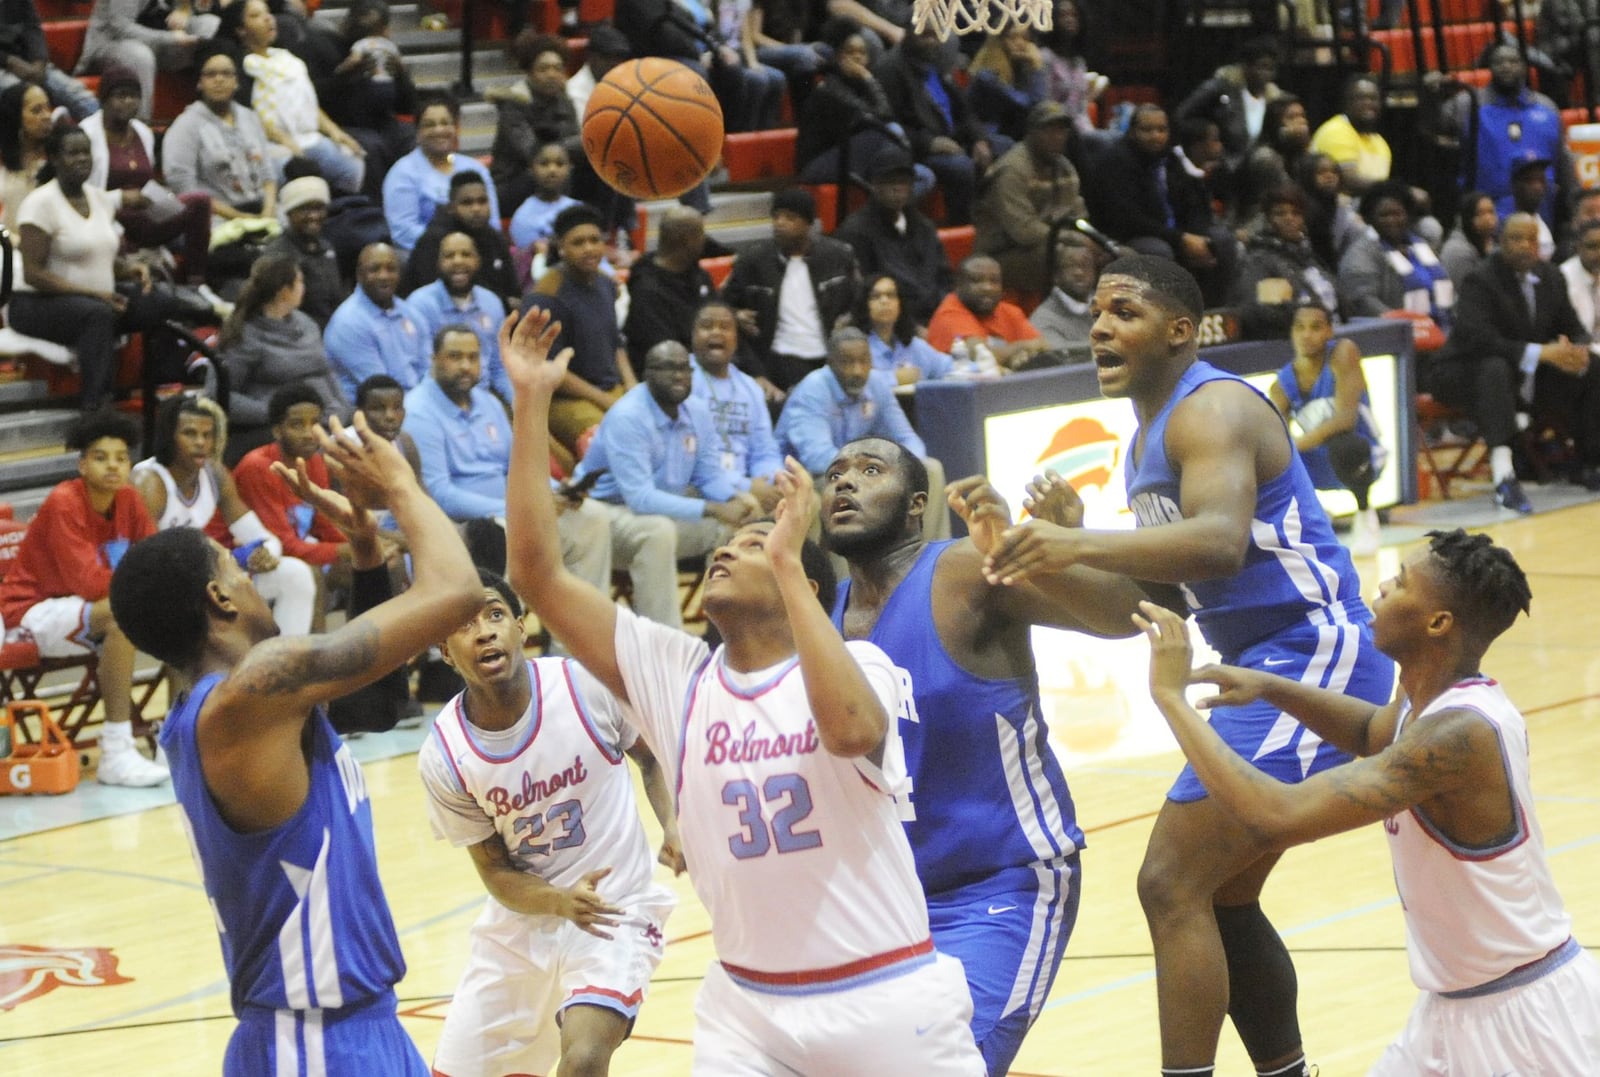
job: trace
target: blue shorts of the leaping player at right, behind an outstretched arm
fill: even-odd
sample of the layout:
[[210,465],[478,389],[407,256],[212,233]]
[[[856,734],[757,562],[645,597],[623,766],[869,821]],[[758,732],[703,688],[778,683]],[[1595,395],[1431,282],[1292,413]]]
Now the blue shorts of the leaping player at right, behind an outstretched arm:
[[[1222,661],[1341,691],[1374,706],[1389,703],[1394,695],[1395,664],[1373,643],[1371,621],[1298,624]],[[1251,767],[1291,786],[1350,759],[1269,703],[1216,707],[1211,728]],[[1189,803],[1205,795],[1194,767],[1184,767],[1166,799]]]

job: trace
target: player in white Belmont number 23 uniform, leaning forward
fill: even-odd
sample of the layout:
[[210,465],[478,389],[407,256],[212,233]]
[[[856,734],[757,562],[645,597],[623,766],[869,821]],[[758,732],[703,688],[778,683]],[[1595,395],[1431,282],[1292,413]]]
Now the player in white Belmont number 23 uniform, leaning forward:
[[[434,1053],[437,1077],[600,1077],[627,1039],[677,898],[651,880],[634,755],[677,866],[672,794],[622,707],[581,666],[525,659],[522,602],[480,571],[483,608],[445,637],[466,691],[418,754],[434,831],[490,891]],[[682,869],[680,869],[682,871]]]

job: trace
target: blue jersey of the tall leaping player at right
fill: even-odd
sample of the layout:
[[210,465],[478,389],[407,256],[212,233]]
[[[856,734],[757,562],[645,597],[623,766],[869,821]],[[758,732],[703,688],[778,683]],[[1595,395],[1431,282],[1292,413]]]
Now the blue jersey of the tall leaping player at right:
[[[1178,474],[1166,459],[1166,421],[1189,394],[1224,379],[1243,382],[1195,360],[1155,419],[1141,427],[1142,442],[1136,445],[1142,443],[1142,451],[1138,459],[1130,454],[1126,464],[1128,506],[1139,526],[1182,520]],[[1272,408],[1272,402],[1262,400]],[[1286,427],[1283,437],[1288,438]],[[1296,624],[1368,623],[1371,613],[1360,587],[1306,464],[1299,453],[1291,453],[1290,466],[1256,490],[1245,567],[1224,579],[1186,583],[1184,597],[1202,635],[1232,661],[1251,643]]]

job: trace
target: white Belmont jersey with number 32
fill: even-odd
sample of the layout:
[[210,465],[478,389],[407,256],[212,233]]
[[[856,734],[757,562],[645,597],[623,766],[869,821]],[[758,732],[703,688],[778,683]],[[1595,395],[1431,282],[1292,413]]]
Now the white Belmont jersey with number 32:
[[882,650],[848,647],[890,715],[882,768],[822,747],[797,658],[738,674],[722,648],[618,611],[618,666],[656,754],[675,763],[690,879],[731,973],[837,981],[928,944],[894,800],[909,693],[902,703]]

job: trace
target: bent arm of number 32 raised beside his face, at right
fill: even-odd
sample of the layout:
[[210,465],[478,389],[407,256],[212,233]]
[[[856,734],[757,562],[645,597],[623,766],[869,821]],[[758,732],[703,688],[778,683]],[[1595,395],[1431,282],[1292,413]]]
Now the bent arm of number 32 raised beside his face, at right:
[[782,501],[778,502],[778,523],[766,534],[766,559],[800,653],[800,675],[818,739],[832,755],[866,755],[882,763],[890,715],[816,600],[816,589],[800,563],[800,549],[816,515],[816,486],[794,456],[784,461],[776,478]]

